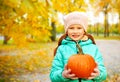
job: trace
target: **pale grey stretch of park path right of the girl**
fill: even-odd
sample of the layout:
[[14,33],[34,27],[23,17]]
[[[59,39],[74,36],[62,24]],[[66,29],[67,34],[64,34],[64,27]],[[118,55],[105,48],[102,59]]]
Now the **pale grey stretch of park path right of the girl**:
[[120,40],[96,40],[108,74],[120,73]]

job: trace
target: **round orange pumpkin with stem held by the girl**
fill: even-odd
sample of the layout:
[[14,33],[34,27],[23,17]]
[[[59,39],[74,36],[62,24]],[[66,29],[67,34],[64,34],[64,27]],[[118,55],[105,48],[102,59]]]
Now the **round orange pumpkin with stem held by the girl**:
[[76,45],[79,53],[72,55],[67,64],[67,68],[71,69],[71,73],[79,78],[88,78],[97,66],[94,58],[89,54],[83,54],[79,44]]

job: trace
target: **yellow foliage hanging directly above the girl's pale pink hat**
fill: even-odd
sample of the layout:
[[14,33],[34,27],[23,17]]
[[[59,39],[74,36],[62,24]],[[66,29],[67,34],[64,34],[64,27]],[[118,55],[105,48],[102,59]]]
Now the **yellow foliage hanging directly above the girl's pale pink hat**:
[[60,2],[52,0],[52,3],[54,10],[62,13],[69,13],[76,10],[85,11],[85,7],[87,7],[84,0],[61,0]]

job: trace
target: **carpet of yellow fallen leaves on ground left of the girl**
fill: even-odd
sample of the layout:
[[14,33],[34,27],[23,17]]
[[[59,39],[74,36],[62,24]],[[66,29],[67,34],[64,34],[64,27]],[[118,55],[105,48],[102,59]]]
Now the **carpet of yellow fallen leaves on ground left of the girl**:
[[[33,46],[34,45],[34,46]],[[37,45],[37,46],[36,46]],[[45,48],[44,46],[47,46]],[[52,62],[53,44],[36,43],[28,47],[16,48],[12,45],[4,45],[0,48],[0,77],[20,75],[32,72],[45,73]],[[7,50],[7,51],[6,51]],[[47,68],[43,71],[43,68]]]

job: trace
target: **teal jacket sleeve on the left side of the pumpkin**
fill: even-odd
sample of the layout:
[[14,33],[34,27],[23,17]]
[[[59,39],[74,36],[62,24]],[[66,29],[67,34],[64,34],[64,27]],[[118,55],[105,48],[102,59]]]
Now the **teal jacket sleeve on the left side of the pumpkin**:
[[52,62],[52,67],[50,71],[50,79],[52,82],[64,82],[68,81],[69,79],[64,78],[62,76],[62,72],[64,70],[64,63],[63,57],[60,51],[60,48],[57,49],[56,55]]

